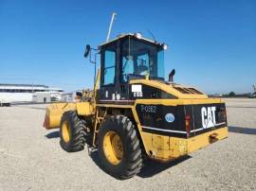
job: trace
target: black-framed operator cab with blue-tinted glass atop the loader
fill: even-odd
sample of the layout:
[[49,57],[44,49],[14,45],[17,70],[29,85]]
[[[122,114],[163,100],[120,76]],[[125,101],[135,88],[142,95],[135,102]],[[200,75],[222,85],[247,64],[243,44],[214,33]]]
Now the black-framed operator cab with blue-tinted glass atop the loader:
[[132,79],[164,81],[166,48],[166,44],[144,39],[140,33],[121,35],[101,44],[100,101],[128,101]]

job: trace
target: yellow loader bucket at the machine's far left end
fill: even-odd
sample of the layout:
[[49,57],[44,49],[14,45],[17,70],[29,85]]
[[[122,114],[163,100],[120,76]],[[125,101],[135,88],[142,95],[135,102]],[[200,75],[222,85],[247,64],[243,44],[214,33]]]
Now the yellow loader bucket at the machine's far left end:
[[76,110],[76,103],[54,103],[46,107],[44,127],[46,130],[60,127],[63,113]]

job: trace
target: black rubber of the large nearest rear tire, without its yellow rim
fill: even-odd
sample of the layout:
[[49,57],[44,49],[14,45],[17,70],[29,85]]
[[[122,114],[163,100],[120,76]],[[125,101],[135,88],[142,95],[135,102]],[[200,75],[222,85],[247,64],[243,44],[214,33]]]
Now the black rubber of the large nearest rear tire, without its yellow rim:
[[[118,165],[109,163],[103,150],[103,138],[110,130],[119,134],[123,146],[123,157]],[[126,116],[112,116],[102,122],[98,136],[98,151],[101,167],[117,179],[132,178],[142,167],[142,151],[137,131],[132,121]]]

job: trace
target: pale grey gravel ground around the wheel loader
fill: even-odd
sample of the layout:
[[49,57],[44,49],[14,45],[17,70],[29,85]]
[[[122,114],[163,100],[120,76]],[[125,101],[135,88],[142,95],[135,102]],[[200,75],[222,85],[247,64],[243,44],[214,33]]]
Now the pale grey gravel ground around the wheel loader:
[[0,190],[256,190],[256,99],[227,99],[229,138],[119,181],[86,148],[67,153],[46,105],[0,108]]

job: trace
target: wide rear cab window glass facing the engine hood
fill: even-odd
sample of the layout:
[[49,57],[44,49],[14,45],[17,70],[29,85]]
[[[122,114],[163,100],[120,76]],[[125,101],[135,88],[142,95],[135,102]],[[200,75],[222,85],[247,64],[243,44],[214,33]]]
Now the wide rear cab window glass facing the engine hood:
[[164,53],[158,46],[128,39],[122,43],[122,81],[129,75],[164,78]]

